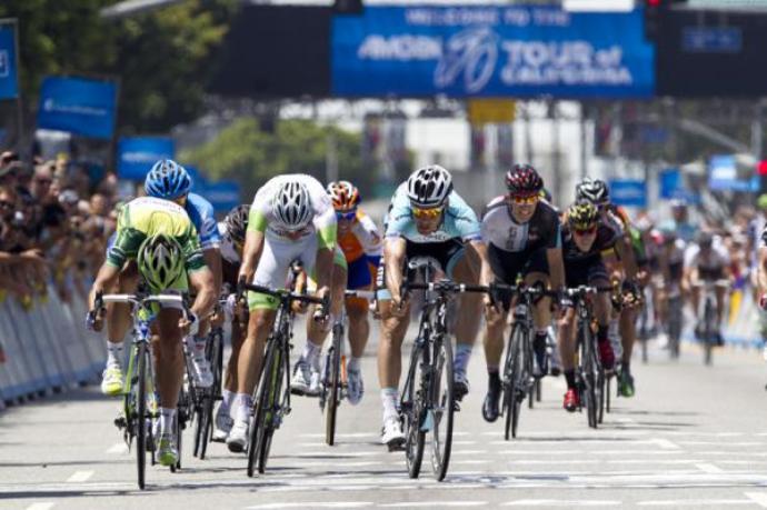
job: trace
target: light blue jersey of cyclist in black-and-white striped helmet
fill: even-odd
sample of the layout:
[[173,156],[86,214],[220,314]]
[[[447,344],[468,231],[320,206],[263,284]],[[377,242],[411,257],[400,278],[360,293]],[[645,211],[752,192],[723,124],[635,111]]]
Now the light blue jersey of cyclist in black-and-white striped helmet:
[[407,182],[400,184],[391,199],[387,216],[387,238],[402,237],[416,243],[444,242],[450,239],[477,241],[481,239],[480,224],[474,210],[455,191],[448,197],[448,208],[439,228],[429,234],[418,232],[408,198]]

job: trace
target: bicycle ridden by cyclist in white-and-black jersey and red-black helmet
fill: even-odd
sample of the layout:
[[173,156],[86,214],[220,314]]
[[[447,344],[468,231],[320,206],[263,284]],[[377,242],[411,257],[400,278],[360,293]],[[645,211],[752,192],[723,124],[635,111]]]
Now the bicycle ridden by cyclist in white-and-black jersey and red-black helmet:
[[512,438],[517,437],[521,402],[528,399],[528,407],[531,409],[532,399],[539,392],[536,381],[540,378],[532,374],[532,337],[535,334],[532,306],[537,299],[556,296],[556,292],[547,291],[541,286],[524,287],[504,283],[494,283],[492,290],[510,292],[518,299],[514,308],[514,323],[507,342],[501,381],[504,390],[501,414],[506,417],[504,439],[508,441],[509,432]]

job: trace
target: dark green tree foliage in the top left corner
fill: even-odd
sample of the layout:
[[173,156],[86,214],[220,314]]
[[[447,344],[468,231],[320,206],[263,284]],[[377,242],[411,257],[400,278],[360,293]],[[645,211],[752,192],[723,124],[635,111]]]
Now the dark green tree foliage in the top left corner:
[[162,132],[192,120],[212,77],[213,50],[235,13],[235,0],[187,0],[103,20],[117,0],[3,0],[0,18],[18,18],[21,88],[37,104],[47,74],[94,74],[120,80],[123,132]]

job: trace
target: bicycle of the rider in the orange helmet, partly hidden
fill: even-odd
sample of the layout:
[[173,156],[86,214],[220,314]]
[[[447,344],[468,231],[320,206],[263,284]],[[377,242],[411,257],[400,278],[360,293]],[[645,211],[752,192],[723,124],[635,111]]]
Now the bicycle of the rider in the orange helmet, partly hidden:
[[[372,291],[347,290],[346,298],[375,297]],[[325,352],[322,363],[322,379],[320,381],[319,404],[325,414],[325,442],[332,447],[336,443],[336,412],[338,406],[346,394],[347,373],[343,356],[343,332],[346,323],[346,311],[341,307],[341,312],[336,317],[332,324],[332,336],[330,347]]]

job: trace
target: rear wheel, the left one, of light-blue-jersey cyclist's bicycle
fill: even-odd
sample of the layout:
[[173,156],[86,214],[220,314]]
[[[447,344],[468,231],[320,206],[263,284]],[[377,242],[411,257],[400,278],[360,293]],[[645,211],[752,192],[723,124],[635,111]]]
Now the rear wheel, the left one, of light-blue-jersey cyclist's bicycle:
[[[412,347],[410,354],[410,369],[402,390],[402,418],[405,421],[405,462],[410,478],[418,478],[424,460],[424,444],[426,431],[422,430],[424,409],[424,368],[425,359],[421,358],[426,349],[419,340]],[[418,389],[416,390],[416,384]]]

